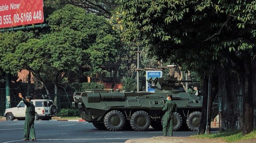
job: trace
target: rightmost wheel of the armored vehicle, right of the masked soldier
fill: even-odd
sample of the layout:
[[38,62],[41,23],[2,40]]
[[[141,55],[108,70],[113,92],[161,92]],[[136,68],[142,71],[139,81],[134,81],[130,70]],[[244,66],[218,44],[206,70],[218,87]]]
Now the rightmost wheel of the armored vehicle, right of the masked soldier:
[[202,113],[200,111],[194,111],[189,114],[187,118],[187,126],[192,131],[197,131],[201,121]]

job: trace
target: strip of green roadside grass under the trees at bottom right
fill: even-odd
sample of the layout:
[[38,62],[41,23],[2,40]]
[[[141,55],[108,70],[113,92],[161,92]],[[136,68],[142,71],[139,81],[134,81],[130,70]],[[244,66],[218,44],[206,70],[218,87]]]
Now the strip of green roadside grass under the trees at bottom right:
[[209,135],[194,135],[191,137],[192,138],[220,138],[227,142],[243,141],[243,140],[256,138],[256,130],[253,130],[251,133],[244,136],[242,135],[241,130],[236,130],[236,131],[225,131],[223,133],[209,134]]

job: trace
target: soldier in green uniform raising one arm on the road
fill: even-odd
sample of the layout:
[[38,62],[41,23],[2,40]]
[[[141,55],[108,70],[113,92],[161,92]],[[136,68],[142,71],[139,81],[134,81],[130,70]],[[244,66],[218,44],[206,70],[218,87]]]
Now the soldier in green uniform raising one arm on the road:
[[31,103],[31,96],[22,97],[21,93],[19,93],[19,97],[22,98],[24,104],[27,106],[26,108],[26,118],[24,123],[24,141],[29,141],[29,134],[31,137],[31,141],[36,141],[36,133],[34,128],[35,121],[35,105]]

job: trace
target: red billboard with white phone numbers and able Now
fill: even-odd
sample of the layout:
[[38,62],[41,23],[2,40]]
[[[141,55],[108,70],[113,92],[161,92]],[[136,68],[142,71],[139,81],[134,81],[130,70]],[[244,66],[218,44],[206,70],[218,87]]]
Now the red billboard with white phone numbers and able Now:
[[0,28],[43,22],[43,0],[0,0]]

